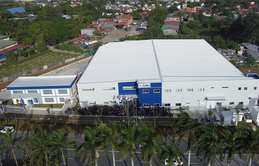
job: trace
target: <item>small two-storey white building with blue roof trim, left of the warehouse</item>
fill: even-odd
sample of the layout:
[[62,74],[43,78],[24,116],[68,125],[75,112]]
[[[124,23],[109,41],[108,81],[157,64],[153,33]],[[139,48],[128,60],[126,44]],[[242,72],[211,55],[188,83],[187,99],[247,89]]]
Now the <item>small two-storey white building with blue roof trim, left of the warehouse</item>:
[[76,95],[77,76],[19,77],[6,87],[13,103],[72,103]]

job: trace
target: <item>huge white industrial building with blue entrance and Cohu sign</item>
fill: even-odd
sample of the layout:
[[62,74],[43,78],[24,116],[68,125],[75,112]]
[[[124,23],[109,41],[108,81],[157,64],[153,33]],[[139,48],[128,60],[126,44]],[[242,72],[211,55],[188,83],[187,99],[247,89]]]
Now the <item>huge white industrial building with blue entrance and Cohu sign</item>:
[[139,40],[101,46],[78,81],[81,106],[119,104],[187,110],[257,105],[259,76],[244,75],[205,40]]

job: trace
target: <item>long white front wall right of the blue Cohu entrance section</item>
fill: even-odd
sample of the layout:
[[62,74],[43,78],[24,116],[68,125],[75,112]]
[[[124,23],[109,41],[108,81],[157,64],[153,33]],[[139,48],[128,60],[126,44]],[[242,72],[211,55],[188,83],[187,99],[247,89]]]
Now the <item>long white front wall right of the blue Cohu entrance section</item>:
[[[170,103],[171,108],[176,109],[179,106],[175,106],[175,103],[182,103],[183,108],[194,110],[195,108],[198,109],[199,106],[200,109],[206,109],[207,102],[222,102],[222,107],[246,108],[249,104],[249,97],[258,96],[259,94],[258,81],[257,79],[250,79],[162,82],[162,106],[164,106],[164,103]],[[217,89],[212,89],[211,87],[217,87]],[[238,90],[238,87],[241,87],[241,90]],[[244,90],[245,87],[247,87],[247,90]],[[257,89],[253,90],[253,87],[257,87]],[[198,91],[198,89],[202,88],[204,88],[204,91]],[[165,92],[165,89],[171,89],[171,92]],[[182,89],[182,92],[176,92],[176,89]],[[193,89],[193,91],[187,92],[187,89]],[[208,101],[207,96],[224,96],[226,100]],[[230,102],[234,102],[234,105],[229,105]],[[238,105],[238,102],[243,102],[243,105]],[[257,103],[257,100],[255,100],[255,103]]]

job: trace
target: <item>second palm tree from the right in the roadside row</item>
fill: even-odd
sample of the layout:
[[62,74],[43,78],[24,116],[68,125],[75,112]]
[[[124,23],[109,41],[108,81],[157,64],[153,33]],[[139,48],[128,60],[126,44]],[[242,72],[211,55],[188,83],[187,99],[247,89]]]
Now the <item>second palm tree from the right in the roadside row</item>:
[[224,136],[220,138],[220,143],[224,147],[225,151],[228,151],[227,166],[234,159],[235,153],[240,152],[240,148],[244,143],[244,139],[237,137],[237,132],[224,130]]

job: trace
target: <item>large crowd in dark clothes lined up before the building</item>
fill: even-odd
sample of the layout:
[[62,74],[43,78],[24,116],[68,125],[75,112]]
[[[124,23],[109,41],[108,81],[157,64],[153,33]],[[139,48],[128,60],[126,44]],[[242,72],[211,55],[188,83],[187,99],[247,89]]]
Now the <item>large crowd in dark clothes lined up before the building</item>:
[[[127,113],[125,112],[125,105],[95,105],[88,107],[68,107],[65,110],[66,115],[74,115],[76,111],[77,116],[118,116],[126,117]],[[169,108],[155,106],[154,112],[151,107],[136,107],[129,105],[129,117],[173,117],[173,114],[170,113]],[[99,110],[99,111],[98,111]],[[100,110],[102,110],[100,114]]]

